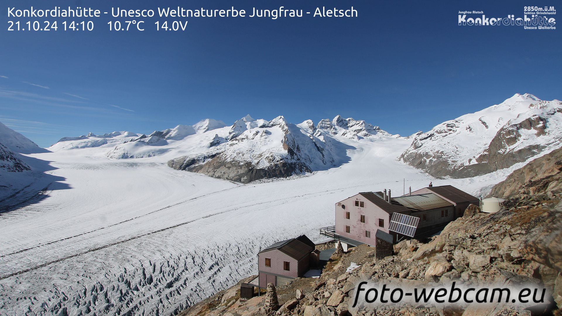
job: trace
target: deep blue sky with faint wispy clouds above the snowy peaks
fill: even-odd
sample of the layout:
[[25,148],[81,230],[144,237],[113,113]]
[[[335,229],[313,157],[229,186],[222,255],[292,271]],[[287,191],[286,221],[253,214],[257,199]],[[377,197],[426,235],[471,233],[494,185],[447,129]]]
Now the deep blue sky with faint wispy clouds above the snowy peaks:
[[409,135],[514,93],[562,98],[562,30],[457,25],[459,10],[522,16],[524,6],[553,0],[61,0],[102,11],[352,5],[359,17],[192,18],[178,32],[152,30],[156,18],[144,18],[143,32],[111,32],[111,18],[100,17],[91,32],[6,30],[17,20],[6,7],[54,7],[45,3],[0,8],[0,121],[43,147],[88,132],[150,133],[205,118],[232,124],[246,114],[292,123],[339,114]]

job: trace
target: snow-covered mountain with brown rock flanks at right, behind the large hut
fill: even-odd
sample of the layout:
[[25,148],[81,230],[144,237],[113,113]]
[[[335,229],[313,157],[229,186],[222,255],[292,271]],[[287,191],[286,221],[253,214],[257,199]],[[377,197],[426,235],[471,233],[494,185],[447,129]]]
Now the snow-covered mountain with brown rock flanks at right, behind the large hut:
[[525,93],[416,134],[400,159],[434,177],[466,178],[508,168],[561,143],[562,102]]

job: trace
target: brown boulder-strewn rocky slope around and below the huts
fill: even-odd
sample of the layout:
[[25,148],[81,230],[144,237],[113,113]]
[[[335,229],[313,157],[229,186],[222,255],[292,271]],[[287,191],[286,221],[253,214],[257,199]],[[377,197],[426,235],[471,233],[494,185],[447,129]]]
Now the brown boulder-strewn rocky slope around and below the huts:
[[[550,315],[562,307],[562,164],[556,151],[532,161],[492,190],[506,188],[501,211],[481,213],[470,206],[462,218],[427,243],[417,240],[395,245],[395,254],[375,259],[373,248],[360,246],[334,253],[320,278],[299,278],[277,288],[273,296],[240,301],[239,286],[220,292],[181,315]],[[545,162],[546,161],[546,162]],[[546,167],[545,167],[546,166]],[[514,183],[518,184],[514,189]],[[500,192],[501,193],[501,192]],[[346,272],[351,262],[359,268]],[[550,304],[522,309],[509,306],[448,309],[425,306],[350,308],[361,280],[402,282],[431,287],[459,283],[515,286],[543,285]],[[271,292],[271,289],[270,289]],[[275,303],[277,300],[277,304]]]

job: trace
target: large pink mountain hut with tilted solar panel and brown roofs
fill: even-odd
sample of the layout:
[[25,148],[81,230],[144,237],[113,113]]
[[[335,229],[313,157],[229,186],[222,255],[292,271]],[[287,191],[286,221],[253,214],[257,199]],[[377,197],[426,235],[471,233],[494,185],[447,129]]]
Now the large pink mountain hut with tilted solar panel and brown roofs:
[[390,189],[360,192],[336,203],[335,225],[321,228],[320,233],[337,238],[344,249],[363,243],[377,247],[380,240],[397,242],[443,227],[479,202],[458,188],[432,183],[398,197],[392,197]]

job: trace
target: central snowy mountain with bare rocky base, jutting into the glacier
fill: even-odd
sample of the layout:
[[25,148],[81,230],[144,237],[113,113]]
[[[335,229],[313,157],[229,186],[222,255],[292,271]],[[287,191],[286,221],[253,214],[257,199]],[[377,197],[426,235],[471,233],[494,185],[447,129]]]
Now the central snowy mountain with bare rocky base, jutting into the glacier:
[[232,125],[224,141],[215,134],[209,148],[170,160],[168,165],[248,183],[333,168],[347,161],[346,148],[351,147],[326,130],[311,130],[308,122],[295,125],[283,116],[265,121],[247,115]]

